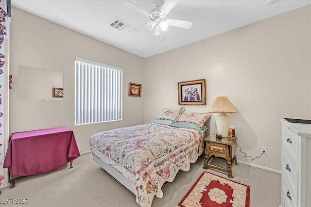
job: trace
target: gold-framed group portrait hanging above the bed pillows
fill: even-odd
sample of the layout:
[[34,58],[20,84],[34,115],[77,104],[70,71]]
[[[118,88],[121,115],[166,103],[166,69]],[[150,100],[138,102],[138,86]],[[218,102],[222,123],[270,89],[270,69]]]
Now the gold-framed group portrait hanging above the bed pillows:
[[178,104],[206,105],[205,79],[178,82]]

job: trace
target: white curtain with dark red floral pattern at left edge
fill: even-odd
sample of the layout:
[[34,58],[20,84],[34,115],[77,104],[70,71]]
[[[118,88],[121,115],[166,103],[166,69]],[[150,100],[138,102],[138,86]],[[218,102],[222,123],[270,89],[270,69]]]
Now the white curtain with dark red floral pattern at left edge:
[[[1,98],[3,99],[4,97],[2,95],[3,94],[3,89],[5,87],[5,85],[3,85],[3,80],[4,80],[4,44],[5,44],[5,37],[6,37],[6,27],[4,26],[4,22],[7,20],[8,18],[8,15],[7,15],[7,4],[9,4],[10,1],[3,1],[3,0],[0,0],[0,141],[3,142],[4,139],[3,139],[3,136],[4,136],[4,133],[3,133],[3,127],[2,127],[2,123],[3,123],[3,113],[4,113],[4,107],[1,106],[3,105],[4,103],[4,100],[1,100]],[[1,77],[2,76],[2,77]],[[3,88],[2,88],[3,87]],[[1,128],[2,127],[2,128]],[[0,153],[2,152],[3,153],[3,146],[2,146],[3,143],[0,143]],[[0,154],[1,156],[1,154]],[[1,157],[3,158],[3,156]],[[0,168],[3,169],[3,166],[2,166],[2,161],[3,159],[0,159]],[[3,172],[3,171],[1,171]],[[0,174],[0,186],[2,185],[2,180],[4,179],[4,175],[1,175]],[[1,191],[0,191],[0,194],[1,194]]]

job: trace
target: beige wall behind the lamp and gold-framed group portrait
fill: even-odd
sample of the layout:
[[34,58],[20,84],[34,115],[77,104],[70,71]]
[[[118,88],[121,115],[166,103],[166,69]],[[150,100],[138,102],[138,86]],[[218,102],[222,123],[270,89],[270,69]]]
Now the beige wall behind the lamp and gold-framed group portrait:
[[[145,61],[145,123],[164,107],[179,107],[177,82],[207,80],[208,111],[217,96],[227,96],[239,113],[229,114],[238,159],[281,170],[281,122],[284,117],[311,119],[311,7],[177,48]],[[169,41],[169,40],[167,40]],[[208,132],[216,132],[212,114]]]

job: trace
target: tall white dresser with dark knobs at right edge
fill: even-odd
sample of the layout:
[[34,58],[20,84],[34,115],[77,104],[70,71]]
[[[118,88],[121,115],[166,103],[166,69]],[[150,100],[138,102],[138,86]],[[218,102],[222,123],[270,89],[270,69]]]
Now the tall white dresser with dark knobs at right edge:
[[281,121],[282,207],[311,207],[311,125]]

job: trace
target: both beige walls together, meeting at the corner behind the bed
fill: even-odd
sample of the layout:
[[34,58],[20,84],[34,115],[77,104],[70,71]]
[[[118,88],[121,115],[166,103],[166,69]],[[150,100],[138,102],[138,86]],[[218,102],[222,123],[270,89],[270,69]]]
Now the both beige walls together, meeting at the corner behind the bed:
[[[177,82],[206,79],[207,105],[186,110],[207,111],[217,96],[228,96],[239,111],[229,116],[242,151],[256,157],[267,147],[260,159],[238,159],[279,171],[279,120],[311,119],[310,15],[310,6],[300,8],[143,59],[13,7],[10,133],[67,126],[85,152],[93,133],[148,123],[162,108],[179,107]],[[122,121],[74,126],[75,56],[124,68]],[[18,65],[64,72],[64,100],[17,99]],[[128,82],[143,84],[142,97],[127,95]],[[216,115],[208,133],[216,132]]]

